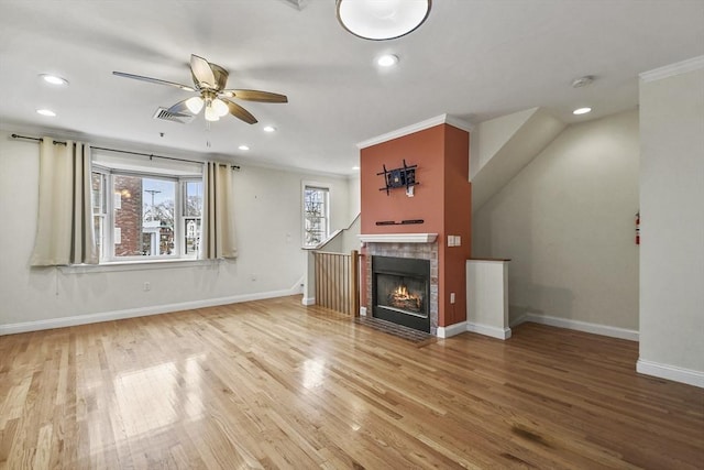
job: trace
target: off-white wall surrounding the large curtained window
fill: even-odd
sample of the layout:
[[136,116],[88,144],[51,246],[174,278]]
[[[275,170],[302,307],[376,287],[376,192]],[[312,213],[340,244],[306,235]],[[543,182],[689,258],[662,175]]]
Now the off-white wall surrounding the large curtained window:
[[[333,230],[350,222],[346,178],[242,165],[235,173],[234,261],[78,273],[30,269],[38,145],[1,132],[0,172],[0,334],[300,292],[306,269],[300,249],[301,181],[331,185]],[[150,292],[143,292],[144,282],[151,283]]]

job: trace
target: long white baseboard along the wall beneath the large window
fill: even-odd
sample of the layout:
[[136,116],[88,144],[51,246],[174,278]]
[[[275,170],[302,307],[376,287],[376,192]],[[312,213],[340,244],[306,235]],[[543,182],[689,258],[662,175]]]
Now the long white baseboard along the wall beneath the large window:
[[218,305],[239,304],[264,298],[286,297],[298,294],[295,289],[260,292],[255,294],[233,295],[230,297],[207,298],[202,300],[182,302],[178,304],[154,305],[150,307],[128,308],[124,310],[101,311],[98,314],[76,315],[72,317],[50,318],[45,320],[23,321],[0,325],[0,336],[19,332],[40,331],[52,328],[65,328],[78,325],[98,324],[100,321],[121,320],[124,318],[145,317],[194,308],[215,307]]

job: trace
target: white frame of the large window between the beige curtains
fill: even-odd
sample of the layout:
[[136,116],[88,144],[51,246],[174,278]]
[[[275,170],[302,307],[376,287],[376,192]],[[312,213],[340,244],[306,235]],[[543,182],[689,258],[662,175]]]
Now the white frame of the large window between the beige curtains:
[[[185,219],[184,216],[184,197],[185,197],[185,185],[188,182],[199,182],[202,183],[202,175],[189,175],[189,176],[166,176],[157,173],[150,173],[144,171],[125,171],[125,170],[113,170],[106,166],[101,166],[98,164],[92,164],[92,173],[98,173],[103,175],[105,179],[105,190],[106,190],[106,212],[101,216],[103,217],[103,240],[101,240],[101,252],[99,253],[99,263],[100,264],[113,264],[113,263],[122,263],[122,262],[162,262],[167,260],[195,260],[197,258],[197,252],[186,254],[186,247],[184,243],[185,240]],[[158,254],[158,255],[134,255],[134,256],[116,256],[114,254],[114,209],[116,209],[116,197],[114,197],[114,177],[116,176],[134,176],[140,178],[150,178],[150,179],[164,179],[168,182],[174,182],[174,252],[173,254]],[[201,208],[202,210],[202,208]],[[98,214],[94,214],[94,216],[98,216]],[[191,217],[189,217],[191,218]],[[202,215],[201,215],[202,220]],[[202,230],[202,225],[201,225]]]

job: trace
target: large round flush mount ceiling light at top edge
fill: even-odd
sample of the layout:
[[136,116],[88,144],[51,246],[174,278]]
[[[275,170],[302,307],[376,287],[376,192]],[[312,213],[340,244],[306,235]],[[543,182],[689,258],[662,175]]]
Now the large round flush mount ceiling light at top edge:
[[355,36],[384,41],[420,26],[432,0],[337,0],[338,21]]

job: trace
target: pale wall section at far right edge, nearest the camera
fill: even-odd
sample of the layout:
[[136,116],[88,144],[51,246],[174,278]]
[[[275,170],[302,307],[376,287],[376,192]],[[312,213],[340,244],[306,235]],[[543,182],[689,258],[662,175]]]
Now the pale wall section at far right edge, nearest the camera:
[[670,68],[696,63],[640,84],[638,371],[704,386],[704,56]]

